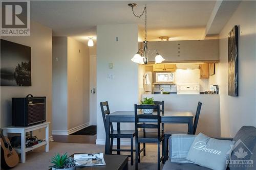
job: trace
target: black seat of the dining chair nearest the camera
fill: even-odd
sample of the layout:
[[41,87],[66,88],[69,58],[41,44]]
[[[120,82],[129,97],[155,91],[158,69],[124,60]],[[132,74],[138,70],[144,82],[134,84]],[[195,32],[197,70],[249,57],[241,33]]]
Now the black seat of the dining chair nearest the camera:
[[[164,133],[160,132],[160,139],[164,139]],[[138,132],[138,140],[139,142],[150,140],[152,142],[157,142],[157,132]]]

